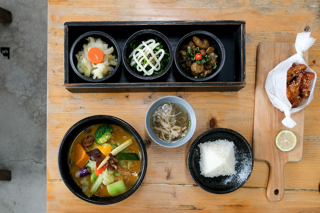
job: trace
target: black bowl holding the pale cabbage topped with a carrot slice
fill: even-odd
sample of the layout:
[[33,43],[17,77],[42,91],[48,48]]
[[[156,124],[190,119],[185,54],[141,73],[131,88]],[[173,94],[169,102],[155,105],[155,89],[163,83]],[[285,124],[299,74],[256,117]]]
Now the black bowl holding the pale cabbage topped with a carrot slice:
[[[112,55],[114,55],[116,57],[116,59],[118,59],[117,65],[116,67],[112,67],[112,72],[110,74],[108,74],[106,77],[101,78],[101,79],[93,79],[93,78],[87,78],[84,77],[83,74],[81,74],[78,69],[77,69],[77,58],[76,58],[76,54],[83,49],[83,45],[87,44],[88,41],[85,40],[88,37],[93,37],[93,38],[100,38],[103,42],[106,42],[108,44],[108,47],[113,47],[113,53]],[[115,72],[117,71],[117,69],[120,66],[121,63],[121,53],[120,53],[120,49],[119,46],[117,44],[117,42],[108,34],[100,32],[100,31],[91,31],[91,32],[87,32],[84,33],[82,35],[80,35],[76,41],[72,44],[71,50],[70,50],[70,63],[71,66],[73,68],[73,70],[76,72],[76,74],[86,80],[86,81],[90,81],[90,82],[100,82],[100,81],[104,81],[107,80],[108,78],[110,78],[113,74],[115,74]]]

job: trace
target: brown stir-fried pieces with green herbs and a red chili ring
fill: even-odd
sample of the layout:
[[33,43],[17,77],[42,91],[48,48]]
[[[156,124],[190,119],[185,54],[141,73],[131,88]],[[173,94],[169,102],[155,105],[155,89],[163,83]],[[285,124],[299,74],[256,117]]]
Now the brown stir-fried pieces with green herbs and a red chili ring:
[[182,46],[177,57],[181,69],[198,79],[210,76],[217,68],[218,55],[207,39],[193,36],[188,44]]

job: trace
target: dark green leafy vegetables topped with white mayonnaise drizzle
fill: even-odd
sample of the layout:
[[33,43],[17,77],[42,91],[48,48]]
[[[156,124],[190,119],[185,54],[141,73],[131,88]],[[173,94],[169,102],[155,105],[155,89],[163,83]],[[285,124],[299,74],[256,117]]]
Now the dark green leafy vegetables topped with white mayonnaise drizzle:
[[163,47],[162,42],[158,42],[157,38],[143,42],[133,40],[128,48],[127,63],[132,67],[133,72],[139,75],[157,75],[167,67],[170,61],[169,50]]

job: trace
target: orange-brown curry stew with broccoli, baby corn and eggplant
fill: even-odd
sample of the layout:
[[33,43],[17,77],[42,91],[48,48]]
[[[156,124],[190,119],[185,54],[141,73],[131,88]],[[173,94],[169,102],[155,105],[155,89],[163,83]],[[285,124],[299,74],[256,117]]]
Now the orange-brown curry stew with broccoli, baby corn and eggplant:
[[70,173],[88,197],[122,194],[140,172],[138,144],[120,126],[98,124],[84,129],[68,154]]

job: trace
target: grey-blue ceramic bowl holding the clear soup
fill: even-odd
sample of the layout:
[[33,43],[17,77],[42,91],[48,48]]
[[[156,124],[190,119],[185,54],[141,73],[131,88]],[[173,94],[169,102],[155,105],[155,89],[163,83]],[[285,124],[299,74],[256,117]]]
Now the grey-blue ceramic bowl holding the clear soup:
[[[181,139],[180,141],[174,142],[174,143],[168,143],[168,142],[164,142],[164,141],[160,140],[152,132],[151,124],[150,124],[150,117],[151,117],[152,113],[154,112],[154,110],[157,109],[160,105],[162,105],[164,103],[168,103],[169,101],[180,103],[187,111],[188,117],[191,121],[191,126],[188,129],[188,132],[187,132],[185,138]],[[196,124],[197,124],[196,113],[193,110],[192,106],[187,101],[185,101],[182,98],[179,98],[177,96],[165,96],[165,97],[162,97],[162,98],[159,98],[158,100],[156,100],[149,107],[147,114],[146,114],[146,120],[145,120],[146,129],[147,129],[147,132],[148,132],[150,138],[153,141],[155,141],[157,144],[159,144],[163,147],[179,147],[179,146],[185,144],[186,142],[188,142],[190,140],[190,138],[192,137],[192,135],[195,133]]]

